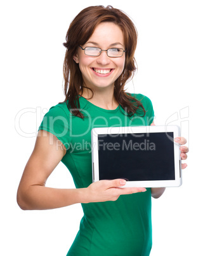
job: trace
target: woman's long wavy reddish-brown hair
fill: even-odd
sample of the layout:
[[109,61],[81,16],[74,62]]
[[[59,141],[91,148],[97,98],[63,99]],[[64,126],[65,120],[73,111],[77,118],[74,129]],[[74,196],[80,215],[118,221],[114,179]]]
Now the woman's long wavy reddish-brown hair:
[[77,52],[77,47],[84,45],[88,41],[95,31],[96,25],[101,22],[114,22],[114,24],[119,25],[124,34],[127,50],[124,70],[114,83],[114,97],[122,108],[127,110],[128,115],[131,116],[141,109],[145,115],[145,109],[141,102],[124,92],[124,85],[130,78],[133,78],[136,71],[134,51],[137,45],[138,33],[131,19],[124,12],[112,6],[107,6],[107,8],[104,6],[90,6],[82,10],[71,22],[66,35],[66,43],[63,43],[67,48],[63,63],[65,82],[65,101],[63,102],[67,103],[67,107],[72,111],[73,115],[84,118],[81,111],[79,111],[79,93],[84,88],[82,73],[73,58]]

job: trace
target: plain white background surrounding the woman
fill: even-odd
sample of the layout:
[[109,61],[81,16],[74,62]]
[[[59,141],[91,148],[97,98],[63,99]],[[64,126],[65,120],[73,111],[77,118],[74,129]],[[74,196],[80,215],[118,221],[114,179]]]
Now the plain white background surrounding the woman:
[[[65,35],[83,8],[111,4],[138,29],[138,73],[128,91],[154,104],[155,124],[178,124],[190,146],[183,185],[152,199],[150,255],[201,255],[201,1],[4,1],[1,4],[1,255],[66,255],[79,228],[79,204],[22,211],[16,190],[44,113],[63,101]],[[49,187],[74,187],[60,163]],[[126,227],[128,229],[128,227]],[[128,256],[128,255],[124,255]]]

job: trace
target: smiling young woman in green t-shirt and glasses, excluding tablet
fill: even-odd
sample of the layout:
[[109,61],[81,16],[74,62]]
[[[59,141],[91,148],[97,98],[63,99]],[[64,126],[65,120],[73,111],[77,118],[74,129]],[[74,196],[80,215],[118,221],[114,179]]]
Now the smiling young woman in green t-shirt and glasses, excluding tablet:
[[[160,197],[165,188],[121,188],[125,180],[92,183],[91,176],[93,127],[154,125],[150,99],[124,92],[136,70],[136,28],[120,10],[91,6],[75,17],[66,39],[65,101],[43,118],[20,181],[18,204],[23,210],[82,204],[84,217],[69,256],[147,256],[152,247],[151,197]],[[187,152],[181,148],[182,159]],[[60,161],[76,188],[45,187]]]

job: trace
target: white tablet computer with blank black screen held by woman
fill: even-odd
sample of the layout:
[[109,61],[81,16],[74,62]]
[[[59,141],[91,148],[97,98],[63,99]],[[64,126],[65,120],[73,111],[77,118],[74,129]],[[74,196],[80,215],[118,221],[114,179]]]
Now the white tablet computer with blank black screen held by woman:
[[179,187],[179,136],[177,125],[93,128],[93,182],[124,178],[124,187]]

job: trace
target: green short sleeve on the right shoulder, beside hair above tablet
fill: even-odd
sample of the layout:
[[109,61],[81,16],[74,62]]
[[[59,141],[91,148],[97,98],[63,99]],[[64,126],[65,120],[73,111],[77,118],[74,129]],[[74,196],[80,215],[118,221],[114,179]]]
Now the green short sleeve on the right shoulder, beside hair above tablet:
[[145,116],[147,119],[147,125],[151,125],[154,120],[154,108],[152,105],[152,101],[143,94],[132,94],[132,96],[143,104],[143,107],[146,111]]

